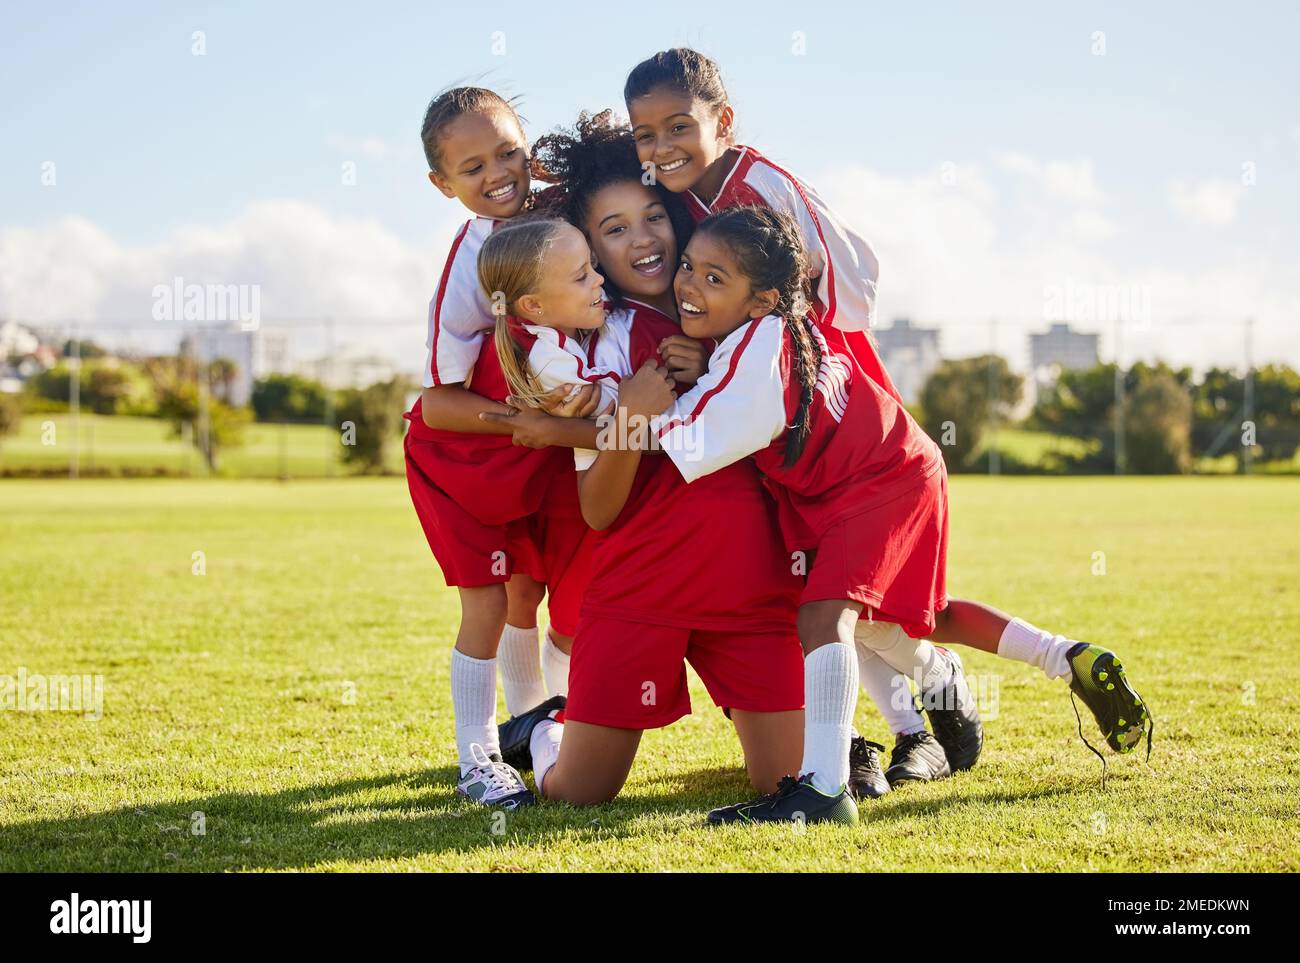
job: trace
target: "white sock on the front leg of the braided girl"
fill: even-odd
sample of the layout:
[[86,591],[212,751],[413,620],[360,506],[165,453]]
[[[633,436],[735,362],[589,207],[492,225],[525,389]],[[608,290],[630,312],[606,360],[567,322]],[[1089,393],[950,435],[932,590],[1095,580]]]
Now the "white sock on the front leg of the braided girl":
[[849,781],[849,733],[858,702],[858,660],[846,642],[831,642],[803,659],[803,762],[801,773],[827,794]]

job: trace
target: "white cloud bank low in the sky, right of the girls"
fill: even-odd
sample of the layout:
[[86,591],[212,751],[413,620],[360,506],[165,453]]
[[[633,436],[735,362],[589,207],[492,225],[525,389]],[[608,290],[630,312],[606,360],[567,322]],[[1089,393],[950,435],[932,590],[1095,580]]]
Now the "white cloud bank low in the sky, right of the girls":
[[[1300,277],[1280,256],[1266,248],[1232,250],[1210,270],[1178,270],[1154,257],[1134,259],[1131,251],[1113,253],[1096,242],[1124,225],[1084,203],[1091,191],[1075,191],[1080,200],[1066,204],[1060,183],[1045,174],[1048,165],[1024,155],[1004,155],[997,165],[1043,175],[1031,178],[1028,196],[1022,196],[1023,186],[1000,195],[972,168],[950,185],[862,168],[814,181],[880,256],[883,325],[910,317],[939,326],[944,350],[958,356],[987,350],[989,322],[997,320],[994,347],[1019,364],[1024,334],[1049,321],[1045,292],[1084,286],[1097,292],[1098,303],[1113,303],[1117,294],[1149,298],[1149,317],[1122,325],[1126,360],[1240,364],[1242,321],[1252,316],[1258,359],[1300,361],[1300,344],[1290,335],[1300,317]],[[1112,350],[1114,318],[1076,327],[1102,333],[1104,351]]]

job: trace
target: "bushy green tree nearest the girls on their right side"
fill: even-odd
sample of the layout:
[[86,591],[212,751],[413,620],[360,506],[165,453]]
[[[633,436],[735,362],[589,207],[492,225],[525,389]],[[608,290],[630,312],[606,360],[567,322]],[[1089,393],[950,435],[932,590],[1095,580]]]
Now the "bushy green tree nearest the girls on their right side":
[[944,450],[949,470],[970,467],[984,429],[1006,418],[1023,391],[1024,379],[998,355],[939,365],[920,392],[922,425]]

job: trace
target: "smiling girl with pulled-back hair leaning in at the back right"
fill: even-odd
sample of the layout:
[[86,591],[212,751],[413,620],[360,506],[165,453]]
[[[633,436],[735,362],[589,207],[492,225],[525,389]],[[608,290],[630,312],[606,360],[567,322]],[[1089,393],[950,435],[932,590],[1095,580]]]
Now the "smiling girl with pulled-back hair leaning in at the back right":
[[[814,281],[812,307],[822,337],[835,351],[853,357],[901,407],[902,399],[866,334],[879,274],[871,246],[836,217],[812,187],[753,147],[734,143],[733,110],[718,65],[685,48],[656,53],[632,70],[624,96],[641,161],[654,165],[659,183],[681,194],[697,221],[742,204],[768,207],[793,218],[806,252],[806,273]],[[1071,639],[962,599],[952,599],[945,611],[949,641],[1027,661],[1052,678],[1070,677],[1066,654]],[[942,776],[974,765],[979,756],[982,729],[974,704],[965,712],[950,711],[954,700],[966,700],[959,660],[952,655],[958,671],[956,690],[942,703],[948,708],[927,707],[939,737],[936,746],[913,702],[900,698],[905,694],[901,676],[885,659],[859,648],[862,685],[898,739],[890,782]]]

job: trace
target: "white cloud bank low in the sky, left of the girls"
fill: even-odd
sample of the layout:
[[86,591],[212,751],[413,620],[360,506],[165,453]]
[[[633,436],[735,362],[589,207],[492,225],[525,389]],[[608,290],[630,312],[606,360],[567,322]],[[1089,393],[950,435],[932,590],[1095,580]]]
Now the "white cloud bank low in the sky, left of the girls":
[[350,347],[410,360],[422,351],[437,260],[455,226],[455,218],[438,224],[438,250],[426,251],[372,220],[265,200],[225,224],[179,227],[148,244],[124,243],[81,217],[39,229],[5,227],[0,317],[88,327],[138,318],[142,331],[156,333],[157,285],[177,277],[198,285],[257,285],[268,325],[333,318],[335,337]]

